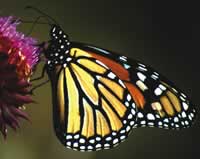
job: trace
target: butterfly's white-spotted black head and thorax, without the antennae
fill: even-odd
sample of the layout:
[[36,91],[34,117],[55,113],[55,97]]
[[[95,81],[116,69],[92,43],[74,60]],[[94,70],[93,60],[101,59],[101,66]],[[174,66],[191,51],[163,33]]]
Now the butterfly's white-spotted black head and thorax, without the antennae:
[[54,68],[56,65],[67,66],[71,61],[69,57],[70,41],[67,34],[57,25],[54,25],[50,32],[51,40],[44,54],[47,58],[48,68]]

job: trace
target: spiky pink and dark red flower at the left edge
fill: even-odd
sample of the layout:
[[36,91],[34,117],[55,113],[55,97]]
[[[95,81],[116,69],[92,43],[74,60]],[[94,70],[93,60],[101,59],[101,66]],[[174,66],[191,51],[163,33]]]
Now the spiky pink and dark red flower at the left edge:
[[0,132],[4,138],[7,125],[16,130],[20,118],[28,119],[21,108],[33,102],[29,79],[39,61],[37,41],[17,32],[17,25],[14,17],[0,17]]

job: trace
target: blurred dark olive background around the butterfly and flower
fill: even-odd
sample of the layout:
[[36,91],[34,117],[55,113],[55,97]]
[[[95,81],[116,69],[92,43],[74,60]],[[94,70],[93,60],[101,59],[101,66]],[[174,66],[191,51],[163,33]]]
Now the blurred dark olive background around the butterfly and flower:
[[[140,60],[177,84],[199,109],[199,5],[191,1],[18,0],[2,1],[1,15],[34,20],[24,10],[33,5],[55,18],[71,40],[91,43]],[[29,31],[31,24],[20,30]],[[32,36],[48,40],[49,27],[37,25]],[[43,64],[40,64],[37,74]],[[199,158],[200,118],[181,131],[134,129],[128,140],[112,150],[81,153],[64,148],[52,128],[50,85],[34,96],[39,104],[27,108],[32,123],[22,122],[8,140],[0,140],[1,159],[183,159]]]

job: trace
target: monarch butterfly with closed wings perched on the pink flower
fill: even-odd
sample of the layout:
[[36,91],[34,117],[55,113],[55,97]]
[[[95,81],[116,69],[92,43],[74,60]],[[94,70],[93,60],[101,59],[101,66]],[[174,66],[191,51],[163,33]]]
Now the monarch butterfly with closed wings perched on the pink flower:
[[56,136],[79,151],[109,149],[133,128],[190,127],[188,97],[153,68],[112,51],[71,42],[57,24],[41,45],[53,97]]

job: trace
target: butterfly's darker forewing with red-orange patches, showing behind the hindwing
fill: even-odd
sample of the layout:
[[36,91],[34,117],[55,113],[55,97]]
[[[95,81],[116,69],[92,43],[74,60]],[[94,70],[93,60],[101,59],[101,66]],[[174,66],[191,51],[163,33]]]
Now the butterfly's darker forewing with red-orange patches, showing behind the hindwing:
[[[99,50],[88,45],[82,45],[82,49],[88,50],[91,54]],[[102,49],[102,52],[106,51]],[[105,57],[98,57],[104,64],[109,65],[108,61],[104,60]],[[134,127],[181,129],[191,126],[196,110],[180,89],[149,66],[124,56],[112,54],[112,58],[115,59],[112,60],[115,64],[110,65],[111,70],[117,72],[117,68],[121,67],[118,76],[136,103],[137,120]],[[119,66],[112,68],[115,65]],[[126,70],[123,72],[122,68]]]

